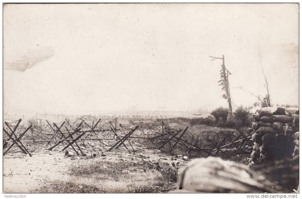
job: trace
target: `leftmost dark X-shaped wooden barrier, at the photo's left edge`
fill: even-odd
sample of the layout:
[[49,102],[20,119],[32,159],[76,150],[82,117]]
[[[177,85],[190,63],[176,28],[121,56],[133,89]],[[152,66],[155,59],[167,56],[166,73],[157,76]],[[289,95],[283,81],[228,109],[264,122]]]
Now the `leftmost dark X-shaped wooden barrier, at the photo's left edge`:
[[[11,146],[8,147],[8,149],[3,153],[3,156],[6,155],[8,153],[8,151],[11,149],[11,147],[13,147],[14,145],[18,146],[19,149],[21,149],[21,151],[25,154],[28,153],[28,155],[30,157],[32,157],[31,153],[26,149],[26,147],[23,145],[23,143],[21,142],[21,138],[22,136],[24,136],[24,134],[31,128],[31,125],[19,136],[17,137],[16,134],[15,134],[15,131],[17,130],[19,124],[21,123],[21,119],[18,120],[18,123],[16,124],[16,126],[14,127],[14,130],[11,129],[11,127],[9,126],[9,124],[7,122],[5,122],[5,125],[8,127],[8,129],[11,131],[11,133],[9,134],[5,128],[3,128],[3,131],[5,132],[6,135],[8,135],[8,139],[6,140],[5,142],[5,146],[4,148],[7,146],[7,142],[9,140],[11,140],[13,143],[11,144]],[[20,146],[20,145],[21,146]],[[3,148],[3,149],[4,149]]]

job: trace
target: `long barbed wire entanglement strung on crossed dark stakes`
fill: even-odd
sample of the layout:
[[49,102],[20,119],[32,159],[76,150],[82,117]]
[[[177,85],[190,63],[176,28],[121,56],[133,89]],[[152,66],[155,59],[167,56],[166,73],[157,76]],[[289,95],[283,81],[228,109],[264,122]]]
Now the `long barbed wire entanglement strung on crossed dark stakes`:
[[39,149],[69,149],[84,155],[87,144],[104,151],[140,147],[160,149],[190,157],[228,156],[224,149],[252,147],[252,129],[196,131],[186,123],[148,118],[119,123],[118,118],[81,116],[53,122],[47,119],[7,120],[3,122],[4,155],[8,152],[35,154]]

